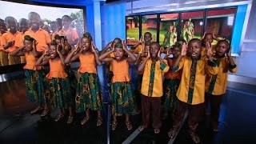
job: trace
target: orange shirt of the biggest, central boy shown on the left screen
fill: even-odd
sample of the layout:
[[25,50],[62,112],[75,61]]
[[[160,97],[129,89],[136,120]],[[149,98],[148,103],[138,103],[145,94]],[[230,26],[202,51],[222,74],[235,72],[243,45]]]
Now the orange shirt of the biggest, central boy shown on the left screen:
[[46,30],[42,30],[41,28],[39,28],[39,30],[36,31],[35,33],[30,28],[25,32],[25,35],[30,35],[30,37],[34,38],[38,42],[38,51],[44,51],[47,47],[47,44],[50,43],[50,35]]

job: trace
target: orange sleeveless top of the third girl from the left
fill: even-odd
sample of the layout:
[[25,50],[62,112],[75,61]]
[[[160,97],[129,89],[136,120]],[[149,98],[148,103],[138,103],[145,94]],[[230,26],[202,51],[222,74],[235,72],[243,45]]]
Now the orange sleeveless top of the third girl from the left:
[[94,54],[79,54],[79,60],[80,67],[78,72],[97,74]]

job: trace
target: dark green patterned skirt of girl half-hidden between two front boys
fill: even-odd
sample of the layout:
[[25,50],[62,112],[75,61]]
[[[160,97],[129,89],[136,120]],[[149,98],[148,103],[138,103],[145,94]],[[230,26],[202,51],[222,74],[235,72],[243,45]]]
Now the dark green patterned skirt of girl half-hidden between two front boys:
[[163,82],[164,86],[164,94],[163,94],[163,109],[173,111],[176,109],[177,106],[177,90],[180,83],[180,79],[165,79]]

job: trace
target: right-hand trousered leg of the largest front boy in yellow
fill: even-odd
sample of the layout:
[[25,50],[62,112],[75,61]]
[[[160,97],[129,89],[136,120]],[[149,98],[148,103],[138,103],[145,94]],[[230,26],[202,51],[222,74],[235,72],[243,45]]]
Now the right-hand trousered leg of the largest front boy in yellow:
[[196,134],[196,130],[198,127],[198,123],[200,122],[202,115],[204,113],[204,103],[198,105],[189,105],[189,117],[188,117],[188,125],[189,125],[189,134],[195,143],[200,142],[200,138],[198,134]]

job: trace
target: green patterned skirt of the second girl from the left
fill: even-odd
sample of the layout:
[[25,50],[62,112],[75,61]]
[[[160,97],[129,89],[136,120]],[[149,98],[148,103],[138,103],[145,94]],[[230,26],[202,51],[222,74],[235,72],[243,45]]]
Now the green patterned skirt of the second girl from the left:
[[68,78],[49,79],[49,105],[55,108],[67,109],[74,106],[74,97],[70,92],[70,82]]

